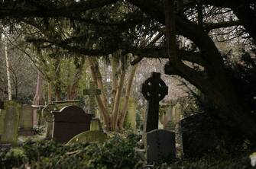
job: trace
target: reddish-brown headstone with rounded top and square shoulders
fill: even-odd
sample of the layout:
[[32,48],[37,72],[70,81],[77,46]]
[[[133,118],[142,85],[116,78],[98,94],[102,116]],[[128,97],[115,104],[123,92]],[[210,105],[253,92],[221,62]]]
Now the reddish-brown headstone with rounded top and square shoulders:
[[85,113],[76,106],[63,107],[53,113],[53,139],[57,142],[68,142],[74,136],[90,129],[92,114]]

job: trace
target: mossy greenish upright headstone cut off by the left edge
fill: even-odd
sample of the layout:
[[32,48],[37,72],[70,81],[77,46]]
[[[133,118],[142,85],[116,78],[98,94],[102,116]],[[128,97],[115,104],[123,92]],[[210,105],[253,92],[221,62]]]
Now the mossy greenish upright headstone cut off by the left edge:
[[0,142],[17,144],[20,113],[20,104],[12,100],[5,102],[5,109],[0,112]]

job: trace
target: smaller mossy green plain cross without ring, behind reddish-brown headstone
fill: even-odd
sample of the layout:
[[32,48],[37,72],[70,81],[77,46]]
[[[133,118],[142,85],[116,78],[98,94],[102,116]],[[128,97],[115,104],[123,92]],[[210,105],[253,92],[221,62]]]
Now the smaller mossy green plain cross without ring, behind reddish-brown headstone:
[[96,81],[89,81],[89,89],[83,90],[84,95],[89,95],[89,113],[96,115],[96,95],[101,94],[101,90],[97,89]]

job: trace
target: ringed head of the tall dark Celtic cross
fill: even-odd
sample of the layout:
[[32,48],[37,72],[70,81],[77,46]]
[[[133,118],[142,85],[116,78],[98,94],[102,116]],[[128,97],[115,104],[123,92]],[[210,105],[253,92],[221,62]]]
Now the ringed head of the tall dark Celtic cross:
[[146,100],[162,100],[168,94],[168,87],[160,78],[160,73],[153,72],[142,84],[141,93]]

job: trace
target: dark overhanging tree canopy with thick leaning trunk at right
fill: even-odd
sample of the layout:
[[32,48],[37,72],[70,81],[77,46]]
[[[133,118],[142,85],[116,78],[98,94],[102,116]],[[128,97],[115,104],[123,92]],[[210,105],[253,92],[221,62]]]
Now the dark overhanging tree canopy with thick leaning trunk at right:
[[[168,75],[190,81],[219,107],[225,123],[255,140],[255,91],[248,99],[240,97],[226,61],[233,52],[230,44],[239,43],[252,62],[249,67],[254,67],[256,2],[170,2],[173,10],[168,0],[2,1],[0,19],[10,30],[26,32],[26,40],[38,49],[61,48],[82,56],[109,56],[120,50],[122,56],[135,56],[131,64],[146,57],[169,58],[164,68]],[[167,46],[170,20],[176,46]],[[222,50],[223,42],[230,43],[228,52]],[[176,54],[170,55],[173,50]]]

